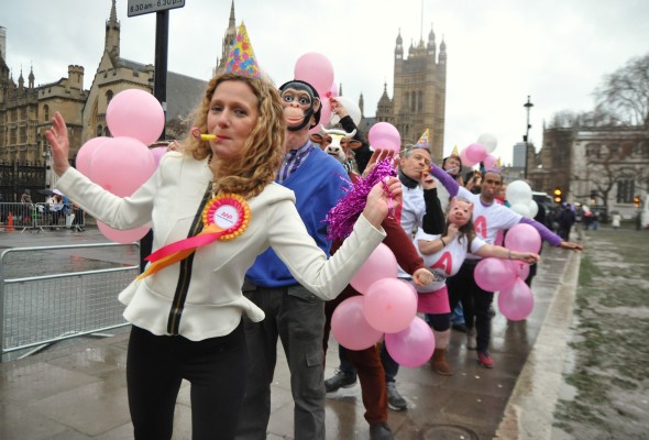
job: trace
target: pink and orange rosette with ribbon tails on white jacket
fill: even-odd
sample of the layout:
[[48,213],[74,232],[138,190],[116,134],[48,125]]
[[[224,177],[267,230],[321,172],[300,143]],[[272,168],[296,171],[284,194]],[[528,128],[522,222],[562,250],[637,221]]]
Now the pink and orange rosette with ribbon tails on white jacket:
[[227,194],[212,198],[202,210],[202,230],[195,237],[167,244],[148,255],[151,264],[138,279],[178,263],[196,249],[210,244],[217,240],[233,240],[241,235],[250,223],[250,207],[245,199],[235,194]]

